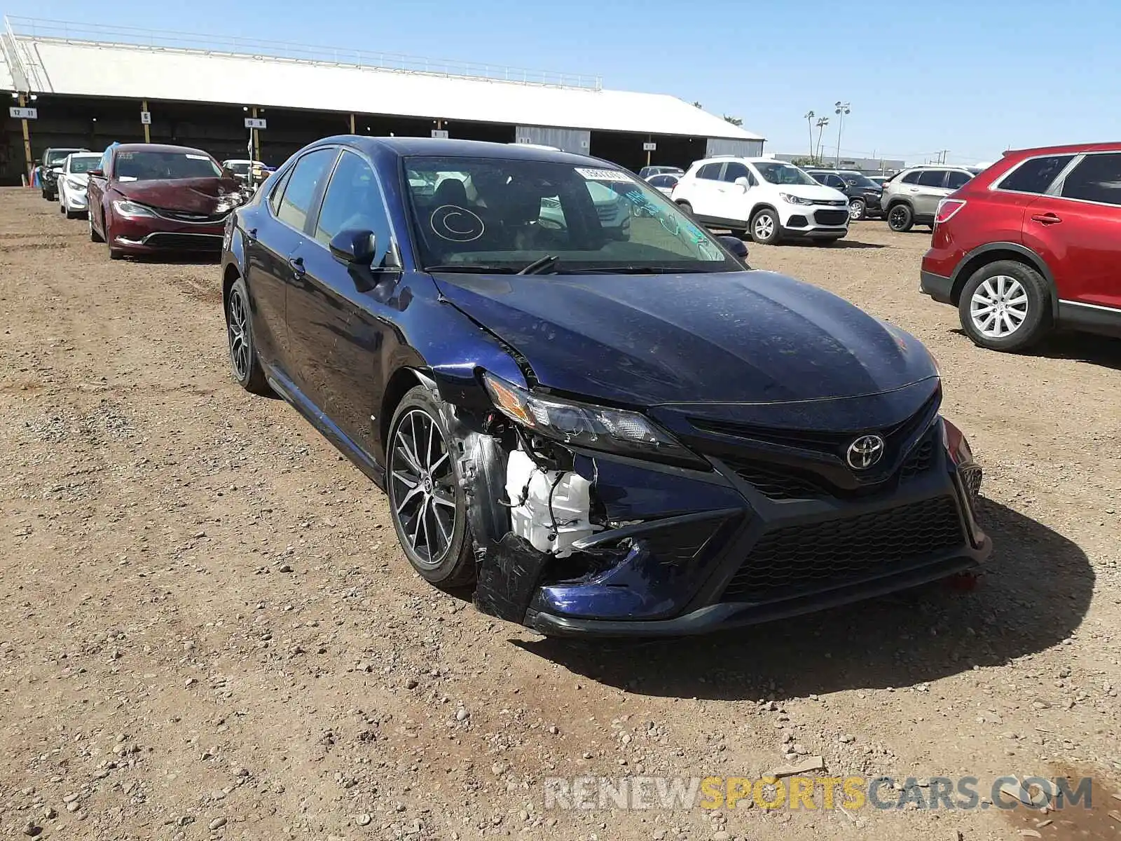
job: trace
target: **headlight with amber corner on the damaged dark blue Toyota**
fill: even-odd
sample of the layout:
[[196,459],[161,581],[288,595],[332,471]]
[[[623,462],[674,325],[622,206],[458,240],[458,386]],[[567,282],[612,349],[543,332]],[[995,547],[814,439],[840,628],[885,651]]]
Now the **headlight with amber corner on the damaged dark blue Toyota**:
[[483,382],[494,408],[545,437],[591,450],[704,463],[637,412],[534,395],[491,373],[483,373]]

